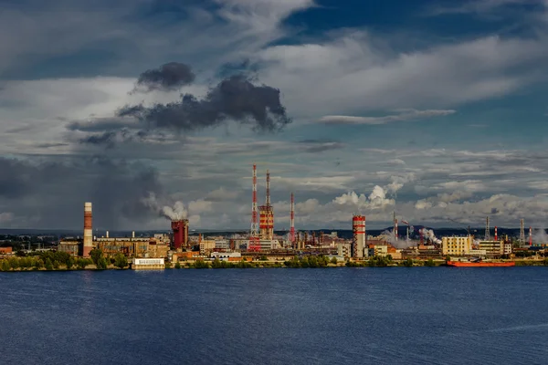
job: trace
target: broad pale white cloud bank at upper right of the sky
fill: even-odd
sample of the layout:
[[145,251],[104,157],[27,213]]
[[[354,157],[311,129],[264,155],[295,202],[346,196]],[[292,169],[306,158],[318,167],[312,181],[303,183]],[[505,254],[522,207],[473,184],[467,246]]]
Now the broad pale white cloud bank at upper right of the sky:
[[401,53],[378,43],[354,31],[322,43],[269,47],[255,59],[263,65],[261,80],[283,90],[291,113],[309,120],[342,116],[331,120],[348,123],[387,121],[347,117],[372,110],[446,110],[508,95],[540,81],[548,60],[543,36],[486,36]]

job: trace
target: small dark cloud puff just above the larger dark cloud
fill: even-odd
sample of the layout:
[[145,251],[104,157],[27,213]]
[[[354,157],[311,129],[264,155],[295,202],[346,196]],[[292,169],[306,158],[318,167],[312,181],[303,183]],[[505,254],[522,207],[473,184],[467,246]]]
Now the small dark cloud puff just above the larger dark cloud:
[[144,71],[137,79],[133,91],[173,91],[181,89],[184,85],[188,85],[194,80],[195,74],[192,72],[190,66],[179,62],[170,62],[162,65],[160,68]]

